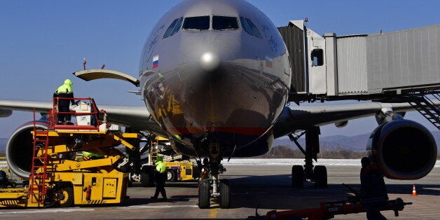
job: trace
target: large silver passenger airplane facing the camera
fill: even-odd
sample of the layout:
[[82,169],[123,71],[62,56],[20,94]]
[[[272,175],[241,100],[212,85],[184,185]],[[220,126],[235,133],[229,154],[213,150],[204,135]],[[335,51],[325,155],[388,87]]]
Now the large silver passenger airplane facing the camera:
[[[356,118],[376,116],[379,125],[367,151],[388,178],[420,179],[436,162],[429,130],[402,117],[414,110],[411,104],[288,105],[289,53],[273,22],[247,1],[186,0],[171,8],[146,39],[138,78],[106,69],[74,74],[138,86],[135,93],[146,107],[101,105],[107,121],[167,137],[172,149],[186,156],[209,158],[211,179],[200,181],[200,208],[209,208],[212,197],[221,208],[231,206],[231,186],[219,178],[222,160],[261,156],[278,137],[289,135],[295,142],[297,132],[305,134],[305,149],[299,146],[305,165],[293,165],[292,186],[309,179],[326,187],[326,167],[312,164],[319,153],[319,126],[342,127]],[[0,99],[0,117],[51,108],[52,102]],[[20,126],[8,141],[8,163],[19,177],[29,177],[22,153],[32,151],[33,126]]]

